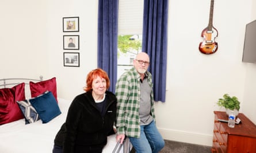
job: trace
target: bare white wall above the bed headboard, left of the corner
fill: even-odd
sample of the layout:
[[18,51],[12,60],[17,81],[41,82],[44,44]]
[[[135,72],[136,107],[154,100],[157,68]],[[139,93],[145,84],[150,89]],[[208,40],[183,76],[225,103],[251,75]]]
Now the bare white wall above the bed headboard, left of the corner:
[[45,3],[4,0],[0,2],[0,77],[47,75],[48,51]]

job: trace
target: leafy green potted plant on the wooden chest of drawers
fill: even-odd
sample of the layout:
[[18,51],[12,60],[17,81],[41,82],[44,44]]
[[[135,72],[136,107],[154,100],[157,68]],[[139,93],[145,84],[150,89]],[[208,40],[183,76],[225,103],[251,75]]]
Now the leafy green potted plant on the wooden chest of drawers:
[[229,96],[227,93],[223,95],[223,98],[217,101],[217,105],[226,108],[227,115],[230,111],[234,111],[235,115],[238,115],[240,109],[240,101],[235,96]]

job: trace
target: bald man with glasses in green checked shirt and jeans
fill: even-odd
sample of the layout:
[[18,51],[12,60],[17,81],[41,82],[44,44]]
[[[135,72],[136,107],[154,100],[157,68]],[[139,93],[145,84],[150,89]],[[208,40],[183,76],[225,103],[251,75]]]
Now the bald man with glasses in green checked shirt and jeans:
[[165,142],[155,125],[152,76],[147,71],[150,58],[139,53],[133,68],[116,83],[117,136],[121,143],[128,136],[137,153],[156,153]]

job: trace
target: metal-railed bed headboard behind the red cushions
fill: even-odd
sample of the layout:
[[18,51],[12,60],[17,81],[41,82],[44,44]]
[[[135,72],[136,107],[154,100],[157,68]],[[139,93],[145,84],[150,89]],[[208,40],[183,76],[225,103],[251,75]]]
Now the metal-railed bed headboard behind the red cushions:
[[43,81],[43,76],[40,76],[39,79],[27,79],[27,78],[0,79],[0,88],[7,88],[20,83],[29,84],[29,81]]

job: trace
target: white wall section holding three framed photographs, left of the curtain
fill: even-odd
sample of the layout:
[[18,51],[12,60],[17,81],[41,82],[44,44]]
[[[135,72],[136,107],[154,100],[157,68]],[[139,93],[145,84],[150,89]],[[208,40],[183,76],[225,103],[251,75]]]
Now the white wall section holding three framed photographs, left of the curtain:
[[[49,74],[58,79],[58,93],[73,99],[83,92],[87,73],[97,68],[97,1],[48,1]],[[63,17],[79,17],[79,32],[63,32]],[[79,50],[63,50],[63,35],[79,35]],[[79,68],[63,66],[63,52],[79,52]]]

